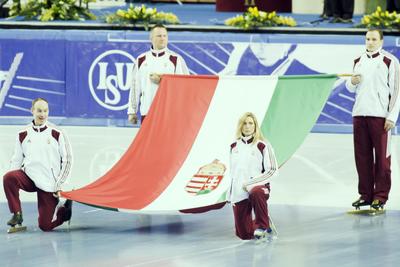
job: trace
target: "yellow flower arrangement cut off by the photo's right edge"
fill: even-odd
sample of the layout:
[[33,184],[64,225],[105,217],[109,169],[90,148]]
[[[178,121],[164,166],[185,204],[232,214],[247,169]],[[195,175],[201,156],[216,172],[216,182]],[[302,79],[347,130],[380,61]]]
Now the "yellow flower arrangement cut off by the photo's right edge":
[[365,28],[381,28],[381,29],[399,29],[400,28],[400,15],[393,11],[382,11],[382,8],[378,6],[375,12],[365,15],[361,19],[361,24],[357,27]]

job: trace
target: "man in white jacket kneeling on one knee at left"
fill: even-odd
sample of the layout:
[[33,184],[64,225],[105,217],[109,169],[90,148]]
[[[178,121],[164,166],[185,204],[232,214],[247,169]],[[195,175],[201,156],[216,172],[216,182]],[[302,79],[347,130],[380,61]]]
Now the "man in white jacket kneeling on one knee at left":
[[[36,192],[39,209],[39,228],[50,231],[71,219],[72,201],[67,200],[56,210],[61,185],[69,175],[72,164],[71,147],[67,136],[50,124],[47,100],[32,102],[33,121],[16,138],[10,171],[4,175],[3,186],[12,218],[8,225],[16,230],[22,225],[19,190]],[[56,215],[55,219],[53,219]]]

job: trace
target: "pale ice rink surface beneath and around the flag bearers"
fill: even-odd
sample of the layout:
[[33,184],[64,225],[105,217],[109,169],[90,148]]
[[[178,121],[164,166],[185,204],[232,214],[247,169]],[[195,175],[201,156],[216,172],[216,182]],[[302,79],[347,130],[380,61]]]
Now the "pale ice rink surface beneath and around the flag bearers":
[[[0,174],[21,126],[0,126]],[[67,189],[104,174],[137,129],[64,127],[74,166]],[[279,236],[256,245],[235,237],[231,207],[197,215],[138,215],[75,203],[70,227],[37,227],[35,194],[21,193],[25,233],[7,234],[0,193],[0,266],[398,266],[398,137],[392,143],[392,190],[380,216],[347,215],[357,195],[351,134],[310,134],[271,182],[270,213]]]

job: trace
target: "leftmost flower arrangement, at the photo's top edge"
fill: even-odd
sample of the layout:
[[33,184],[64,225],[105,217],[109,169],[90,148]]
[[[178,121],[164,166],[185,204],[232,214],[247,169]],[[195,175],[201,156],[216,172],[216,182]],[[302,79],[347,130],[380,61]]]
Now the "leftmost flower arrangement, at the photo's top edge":
[[25,20],[93,20],[96,16],[88,9],[88,3],[95,0],[83,0],[86,8],[75,0],[28,0],[26,4],[13,1],[9,15],[21,16]]

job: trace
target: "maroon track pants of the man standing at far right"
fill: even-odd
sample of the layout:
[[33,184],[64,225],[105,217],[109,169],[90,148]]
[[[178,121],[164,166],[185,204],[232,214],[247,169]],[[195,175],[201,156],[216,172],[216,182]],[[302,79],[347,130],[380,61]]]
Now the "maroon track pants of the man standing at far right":
[[385,118],[353,118],[354,154],[358,172],[358,192],[366,201],[385,203],[391,186],[390,140],[384,129]]

